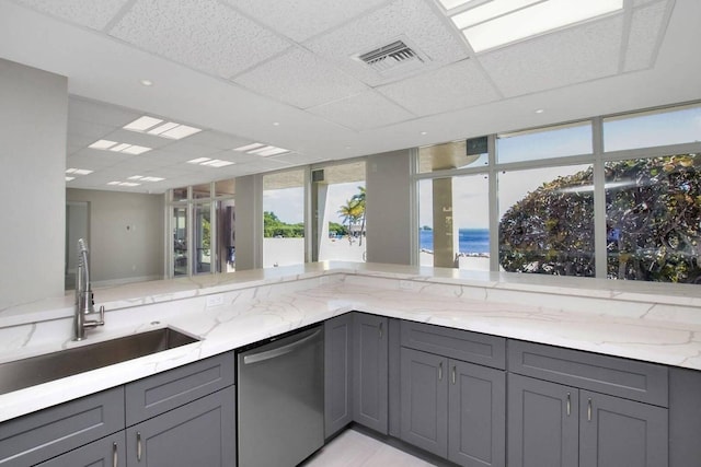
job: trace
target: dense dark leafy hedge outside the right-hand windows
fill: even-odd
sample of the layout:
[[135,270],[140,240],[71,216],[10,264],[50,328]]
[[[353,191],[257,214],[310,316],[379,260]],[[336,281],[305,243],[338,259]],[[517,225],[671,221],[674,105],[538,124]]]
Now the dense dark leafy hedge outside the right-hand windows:
[[[594,192],[588,168],[543,184],[499,222],[506,271],[590,276]],[[701,155],[606,164],[607,276],[701,282]]]

